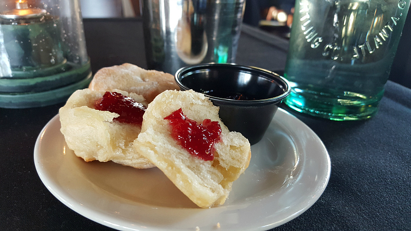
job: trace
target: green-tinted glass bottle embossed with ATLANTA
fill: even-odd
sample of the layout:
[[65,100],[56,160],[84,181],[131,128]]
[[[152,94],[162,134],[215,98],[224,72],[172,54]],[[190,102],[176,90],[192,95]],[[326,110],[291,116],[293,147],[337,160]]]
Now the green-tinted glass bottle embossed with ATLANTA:
[[285,103],[330,120],[372,117],[384,93],[409,0],[297,0]]

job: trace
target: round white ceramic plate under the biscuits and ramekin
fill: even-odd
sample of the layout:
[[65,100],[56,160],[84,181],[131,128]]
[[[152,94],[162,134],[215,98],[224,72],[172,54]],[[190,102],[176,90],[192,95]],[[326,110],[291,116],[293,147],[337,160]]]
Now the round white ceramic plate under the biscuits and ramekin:
[[59,115],[40,133],[34,162],[57,199],[121,230],[267,230],[302,214],[328,183],[330,159],[323,143],[282,109],[251,152],[250,166],[226,203],[214,208],[196,207],[157,168],[76,157],[60,132]]

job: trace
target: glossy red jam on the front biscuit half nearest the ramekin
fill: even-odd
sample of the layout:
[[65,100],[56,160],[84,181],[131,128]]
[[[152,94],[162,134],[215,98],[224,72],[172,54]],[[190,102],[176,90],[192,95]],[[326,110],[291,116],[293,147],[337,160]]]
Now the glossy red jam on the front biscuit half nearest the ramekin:
[[180,109],[164,120],[172,127],[171,135],[185,150],[204,161],[214,160],[214,144],[221,140],[221,127],[218,121],[205,119],[202,124],[187,118]]

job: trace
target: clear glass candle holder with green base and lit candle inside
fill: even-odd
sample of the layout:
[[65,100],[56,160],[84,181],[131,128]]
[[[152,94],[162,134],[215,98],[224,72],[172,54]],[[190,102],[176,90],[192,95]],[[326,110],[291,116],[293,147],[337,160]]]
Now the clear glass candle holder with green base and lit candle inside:
[[90,81],[78,0],[0,3],[0,107],[64,102]]

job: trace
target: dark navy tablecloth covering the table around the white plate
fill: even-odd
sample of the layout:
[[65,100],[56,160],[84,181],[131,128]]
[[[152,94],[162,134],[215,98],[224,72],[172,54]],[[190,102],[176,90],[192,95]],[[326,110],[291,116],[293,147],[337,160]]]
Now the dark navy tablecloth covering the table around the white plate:
[[[84,20],[92,70],[146,67],[139,19]],[[288,42],[243,27],[237,63],[285,66]],[[0,108],[0,230],[109,230],[51,195],[33,161],[34,143],[63,103]],[[273,230],[411,230],[411,89],[388,81],[375,118],[333,122],[293,112],[323,141],[331,176],[305,213]]]

